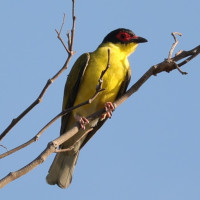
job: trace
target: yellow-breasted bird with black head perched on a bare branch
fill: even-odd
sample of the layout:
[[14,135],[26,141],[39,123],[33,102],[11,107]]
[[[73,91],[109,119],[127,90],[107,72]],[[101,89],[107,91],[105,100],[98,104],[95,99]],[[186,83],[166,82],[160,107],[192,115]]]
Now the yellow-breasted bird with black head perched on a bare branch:
[[[86,117],[104,107],[110,117],[114,110],[112,103],[126,92],[131,79],[128,57],[139,43],[144,42],[147,40],[137,36],[133,31],[118,28],[107,34],[95,51],[84,53],[76,60],[65,84],[62,110],[78,105],[95,94],[98,80],[107,66],[108,49],[110,50],[110,67],[103,76],[104,90],[91,104],[62,116],[61,135],[77,121],[80,122],[81,128],[75,136],[59,147],[67,149],[73,146],[69,151],[56,154],[46,177],[48,184],[57,184],[60,188],[67,188],[70,185],[80,150],[106,121],[100,117],[89,123]],[[89,131],[91,127],[92,130]]]

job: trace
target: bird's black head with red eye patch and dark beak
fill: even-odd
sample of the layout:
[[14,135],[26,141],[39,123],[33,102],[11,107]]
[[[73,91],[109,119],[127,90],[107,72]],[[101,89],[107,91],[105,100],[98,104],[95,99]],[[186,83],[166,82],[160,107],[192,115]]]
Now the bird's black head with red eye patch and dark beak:
[[129,44],[131,42],[134,43],[142,43],[147,42],[145,38],[136,36],[129,29],[119,28],[112,32],[110,32],[103,40],[102,43],[112,42],[112,43],[122,43],[122,44]]

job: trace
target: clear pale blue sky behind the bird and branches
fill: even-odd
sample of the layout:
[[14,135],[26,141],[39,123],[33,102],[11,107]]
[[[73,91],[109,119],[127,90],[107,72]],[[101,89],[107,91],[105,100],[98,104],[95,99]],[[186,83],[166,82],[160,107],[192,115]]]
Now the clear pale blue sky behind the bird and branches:
[[[77,0],[74,55],[97,48],[111,30],[125,27],[148,39],[130,57],[133,84],[168,56],[171,32],[183,34],[176,51],[200,43],[198,0]],[[70,0],[0,2],[0,130],[39,95],[67,54],[56,37]],[[0,190],[1,199],[200,199],[200,57],[178,71],[151,77],[121,105],[81,151],[71,186],[46,184],[54,155],[29,174]],[[67,70],[43,102],[3,140],[11,149],[31,138],[61,110]],[[59,135],[60,121],[40,140],[0,160],[0,178],[32,161]],[[0,153],[4,149],[0,148]]]

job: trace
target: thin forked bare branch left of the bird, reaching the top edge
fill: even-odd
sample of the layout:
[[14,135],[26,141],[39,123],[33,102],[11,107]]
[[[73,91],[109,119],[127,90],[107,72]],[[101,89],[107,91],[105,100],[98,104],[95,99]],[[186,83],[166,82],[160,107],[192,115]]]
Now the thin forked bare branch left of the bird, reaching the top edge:
[[68,68],[69,62],[72,58],[72,56],[74,55],[74,51],[73,51],[73,40],[74,40],[74,33],[75,33],[75,20],[76,20],[76,16],[75,16],[75,0],[72,0],[72,28],[71,28],[71,39],[70,42],[68,43],[68,48],[65,46],[62,38],[61,38],[61,31],[63,28],[63,25],[65,23],[65,15],[63,17],[63,22],[60,28],[60,31],[57,32],[57,37],[58,39],[61,41],[61,43],[63,44],[65,50],[68,53],[68,57],[67,60],[65,62],[65,64],[63,65],[63,67],[52,77],[50,78],[47,83],[45,84],[44,88],[42,89],[40,95],[38,96],[38,98],[28,107],[26,108],[18,117],[14,118],[11,123],[9,124],[9,126],[0,134],[0,141],[8,134],[8,132],[26,115],[28,114],[37,104],[41,103],[43,100],[43,97],[47,91],[47,89],[49,88],[49,86]]

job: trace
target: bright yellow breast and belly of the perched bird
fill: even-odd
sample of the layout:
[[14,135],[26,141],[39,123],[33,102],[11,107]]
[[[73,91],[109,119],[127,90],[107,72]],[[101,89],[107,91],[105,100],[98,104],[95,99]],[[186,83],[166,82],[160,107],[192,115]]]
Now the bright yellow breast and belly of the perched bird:
[[[116,99],[121,84],[126,78],[127,70],[129,69],[127,57],[130,53],[129,51],[122,51],[117,45],[109,43],[90,53],[90,60],[82,82],[80,83],[74,105],[90,99],[95,94],[100,75],[107,66],[108,48],[110,48],[110,68],[103,76],[102,88],[105,90],[91,104],[74,110],[73,116],[80,115],[86,117],[103,108],[106,102],[114,102]],[[131,52],[133,52],[136,45],[134,49],[132,46],[131,48]]]

